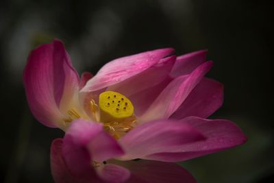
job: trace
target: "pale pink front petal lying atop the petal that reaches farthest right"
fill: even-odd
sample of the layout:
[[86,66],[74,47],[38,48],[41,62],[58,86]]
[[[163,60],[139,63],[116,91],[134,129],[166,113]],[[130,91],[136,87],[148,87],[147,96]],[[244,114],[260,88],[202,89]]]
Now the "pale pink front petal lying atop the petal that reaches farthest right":
[[177,151],[187,143],[201,141],[204,136],[186,123],[158,120],[135,127],[119,141],[125,151],[121,160],[142,158],[149,154]]

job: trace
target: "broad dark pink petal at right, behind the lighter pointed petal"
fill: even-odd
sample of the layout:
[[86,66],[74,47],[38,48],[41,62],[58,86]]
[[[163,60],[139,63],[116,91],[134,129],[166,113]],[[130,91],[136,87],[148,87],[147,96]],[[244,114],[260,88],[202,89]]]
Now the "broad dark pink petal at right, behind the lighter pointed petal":
[[222,104],[223,85],[215,80],[203,78],[170,119],[183,119],[190,116],[207,118]]

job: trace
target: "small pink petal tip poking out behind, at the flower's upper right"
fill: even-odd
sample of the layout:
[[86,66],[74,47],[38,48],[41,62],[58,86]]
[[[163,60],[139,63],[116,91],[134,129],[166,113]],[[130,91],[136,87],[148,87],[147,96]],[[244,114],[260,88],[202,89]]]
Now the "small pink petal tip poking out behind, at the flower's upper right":
[[171,77],[178,77],[191,73],[197,66],[206,62],[207,50],[195,51],[183,56],[179,56],[171,70]]

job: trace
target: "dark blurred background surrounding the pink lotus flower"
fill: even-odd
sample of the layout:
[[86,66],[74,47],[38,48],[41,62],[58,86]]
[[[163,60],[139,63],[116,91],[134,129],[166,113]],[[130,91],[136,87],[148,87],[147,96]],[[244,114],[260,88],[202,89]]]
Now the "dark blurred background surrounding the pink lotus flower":
[[[53,182],[49,147],[63,132],[29,111],[22,72],[29,51],[60,38],[80,73],[140,51],[208,49],[208,74],[225,85],[211,118],[235,121],[245,145],[182,162],[198,182],[273,182],[271,1],[1,1],[0,182]],[[271,72],[272,71],[272,72]],[[182,180],[183,182],[183,180]]]

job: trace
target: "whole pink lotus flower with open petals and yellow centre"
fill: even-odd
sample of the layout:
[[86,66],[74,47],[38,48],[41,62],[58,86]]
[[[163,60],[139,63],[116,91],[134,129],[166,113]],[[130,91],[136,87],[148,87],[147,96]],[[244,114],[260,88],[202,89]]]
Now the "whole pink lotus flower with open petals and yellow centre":
[[59,40],[32,51],[29,107],[66,132],[51,145],[55,182],[195,182],[172,162],[245,143],[232,121],[205,119],[223,103],[223,86],[204,77],[207,51],[172,53],[119,58],[79,79]]

